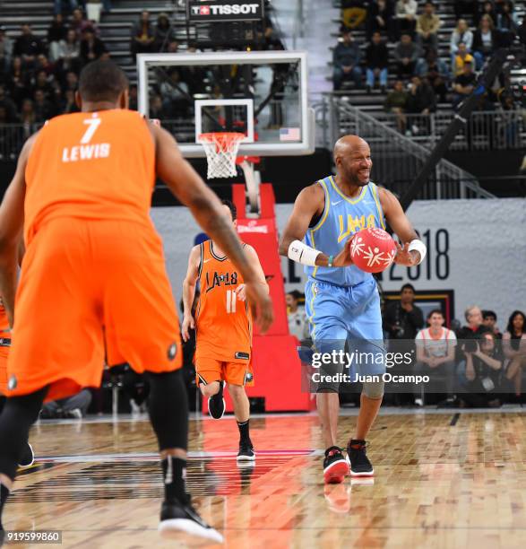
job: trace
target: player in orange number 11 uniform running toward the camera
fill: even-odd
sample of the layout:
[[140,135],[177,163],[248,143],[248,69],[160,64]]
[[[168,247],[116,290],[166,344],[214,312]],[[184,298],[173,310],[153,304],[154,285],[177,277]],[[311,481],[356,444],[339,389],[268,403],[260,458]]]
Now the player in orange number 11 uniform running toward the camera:
[[[236,206],[224,200],[223,208],[235,227]],[[258,283],[265,292],[269,292],[254,248],[248,244],[244,246],[246,256],[258,274]],[[194,320],[192,303],[197,280],[201,293]],[[203,396],[208,396],[209,414],[214,419],[220,419],[225,413],[223,388],[227,383],[239,428],[237,460],[254,461],[249,432],[250,405],[245,392],[245,385],[253,383],[252,315],[245,290],[243,275],[217,242],[207,240],[192,248],[183,283],[183,339],[188,340],[189,327],[196,328],[195,371]]]

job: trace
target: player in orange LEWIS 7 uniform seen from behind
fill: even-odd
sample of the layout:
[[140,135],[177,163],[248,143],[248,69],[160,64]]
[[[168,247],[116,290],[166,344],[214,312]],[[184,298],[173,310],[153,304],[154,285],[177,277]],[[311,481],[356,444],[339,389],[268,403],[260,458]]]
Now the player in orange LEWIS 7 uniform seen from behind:
[[172,136],[127,109],[123,71],[111,61],[86,65],[77,101],[82,112],[51,119],[24,144],[0,206],[0,294],[15,334],[0,416],[0,513],[42,403],[99,387],[106,347],[109,364],[128,362],[150,383],[165,488],[161,534],[219,542],[185,491],[188,406],[174,298],[149,215],[156,175],[243,274],[263,331],[272,301],[220,200]]

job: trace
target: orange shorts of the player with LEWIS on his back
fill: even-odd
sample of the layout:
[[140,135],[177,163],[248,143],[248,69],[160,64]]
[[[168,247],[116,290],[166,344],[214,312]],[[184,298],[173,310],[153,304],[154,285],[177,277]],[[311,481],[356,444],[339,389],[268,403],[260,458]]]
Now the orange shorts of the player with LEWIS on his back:
[[138,373],[182,364],[162,243],[150,225],[61,217],[30,240],[15,301],[8,395],[99,387],[106,362]]

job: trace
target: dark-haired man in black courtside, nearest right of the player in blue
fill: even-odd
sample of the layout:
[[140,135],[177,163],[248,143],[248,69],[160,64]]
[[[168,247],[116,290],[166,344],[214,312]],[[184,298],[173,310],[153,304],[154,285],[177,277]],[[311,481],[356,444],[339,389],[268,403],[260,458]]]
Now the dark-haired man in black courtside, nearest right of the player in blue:
[[424,313],[415,302],[412,284],[401,287],[400,301],[392,301],[385,308],[384,326],[392,339],[414,340],[424,326]]

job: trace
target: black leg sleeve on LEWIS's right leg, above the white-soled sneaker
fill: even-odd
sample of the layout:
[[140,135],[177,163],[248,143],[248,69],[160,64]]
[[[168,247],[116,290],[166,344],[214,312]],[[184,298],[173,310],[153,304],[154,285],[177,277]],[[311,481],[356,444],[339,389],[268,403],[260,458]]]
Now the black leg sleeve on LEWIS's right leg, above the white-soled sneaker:
[[159,449],[188,447],[188,396],[181,370],[145,375],[150,383],[148,409]]

